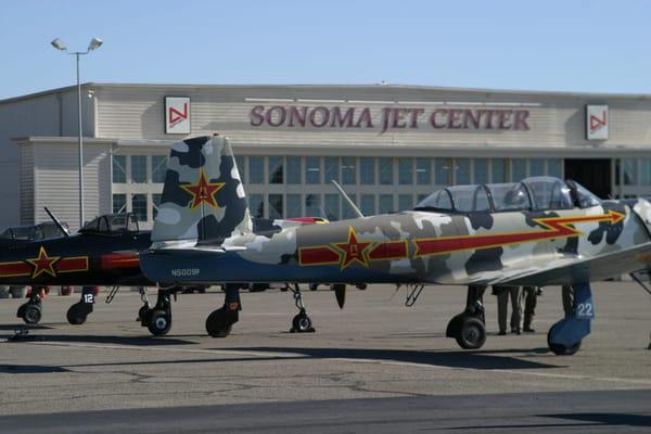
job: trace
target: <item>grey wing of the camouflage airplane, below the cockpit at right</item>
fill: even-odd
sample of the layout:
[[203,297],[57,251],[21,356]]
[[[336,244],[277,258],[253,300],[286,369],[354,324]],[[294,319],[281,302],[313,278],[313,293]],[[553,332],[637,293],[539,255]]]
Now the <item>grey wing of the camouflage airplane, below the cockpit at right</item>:
[[499,271],[484,271],[471,276],[471,283],[486,285],[533,285],[584,283],[629,273],[651,265],[651,242],[590,258],[564,256],[552,259],[545,267],[534,263],[515,263]]

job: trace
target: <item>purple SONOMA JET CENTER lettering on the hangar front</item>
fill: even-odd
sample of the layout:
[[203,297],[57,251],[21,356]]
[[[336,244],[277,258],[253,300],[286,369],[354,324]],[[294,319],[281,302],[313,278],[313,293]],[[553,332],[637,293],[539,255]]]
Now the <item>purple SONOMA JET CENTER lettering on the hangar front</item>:
[[326,105],[256,105],[248,113],[252,127],[528,131],[528,110],[445,107],[369,107]]

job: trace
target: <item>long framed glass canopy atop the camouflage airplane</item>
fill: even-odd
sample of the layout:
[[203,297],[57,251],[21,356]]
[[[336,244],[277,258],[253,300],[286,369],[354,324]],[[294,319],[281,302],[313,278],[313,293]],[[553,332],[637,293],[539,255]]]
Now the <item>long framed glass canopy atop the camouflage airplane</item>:
[[499,213],[588,208],[601,200],[573,180],[539,176],[521,182],[454,186],[435,191],[414,210],[445,213]]

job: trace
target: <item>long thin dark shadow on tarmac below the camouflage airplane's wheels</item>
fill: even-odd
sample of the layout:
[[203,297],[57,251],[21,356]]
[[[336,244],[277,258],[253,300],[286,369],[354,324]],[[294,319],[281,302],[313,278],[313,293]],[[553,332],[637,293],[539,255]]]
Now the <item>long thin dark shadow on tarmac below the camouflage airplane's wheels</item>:
[[[297,353],[316,359],[358,359],[444,366],[469,369],[542,369],[559,368],[558,365],[540,363],[516,357],[503,356],[507,352],[421,352],[406,349],[369,349],[369,348],[296,348],[296,347],[238,347],[219,348],[220,350],[246,350],[265,353]],[[522,352],[520,352],[522,353]]]

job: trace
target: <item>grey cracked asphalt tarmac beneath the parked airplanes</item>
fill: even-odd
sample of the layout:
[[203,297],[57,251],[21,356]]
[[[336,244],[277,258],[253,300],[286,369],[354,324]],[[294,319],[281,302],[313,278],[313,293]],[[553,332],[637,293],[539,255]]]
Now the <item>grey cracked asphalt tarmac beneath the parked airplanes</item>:
[[[23,301],[0,301],[0,432],[649,432],[651,296],[630,282],[596,284],[597,319],[574,356],[547,349],[562,316],[560,288],[538,298],[534,334],[488,337],[475,352],[445,337],[461,288],[349,289],[346,308],[324,288],[304,291],[316,333],[289,333],[291,293],[243,293],[226,339],[204,330],[222,294],[180,295],[169,335],[135,321],[138,294],[100,296],[87,323],[50,295],[41,324]],[[55,414],[52,414],[55,413]],[[127,430],[128,429],[128,430]]]

